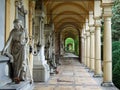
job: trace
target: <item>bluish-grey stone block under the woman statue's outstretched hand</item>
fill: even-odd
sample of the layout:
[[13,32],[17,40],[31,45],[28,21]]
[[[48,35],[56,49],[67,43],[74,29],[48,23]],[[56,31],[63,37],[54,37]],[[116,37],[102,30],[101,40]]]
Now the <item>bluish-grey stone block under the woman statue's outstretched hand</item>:
[[12,80],[10,79],[8,61],[8,57],[0,55],[0,88],[7,83],[12,82]]

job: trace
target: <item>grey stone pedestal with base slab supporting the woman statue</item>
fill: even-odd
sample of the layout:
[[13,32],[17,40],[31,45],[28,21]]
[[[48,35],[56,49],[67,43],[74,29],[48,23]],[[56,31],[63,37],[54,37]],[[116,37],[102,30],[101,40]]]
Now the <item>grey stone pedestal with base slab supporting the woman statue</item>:
[[0,90],[32,90],[30,81],[21,81],[19,84],[12,82],[10,78],[9,58],[0,56]]

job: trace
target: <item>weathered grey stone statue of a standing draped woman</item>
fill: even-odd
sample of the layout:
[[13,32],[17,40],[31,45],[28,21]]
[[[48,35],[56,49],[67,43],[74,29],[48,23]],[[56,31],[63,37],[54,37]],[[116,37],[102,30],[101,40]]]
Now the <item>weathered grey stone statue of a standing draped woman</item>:
[[[26,43],[28,41],[26,30],[22,27],[22,21],[19,19],[14,20],[14,28],[10,32],[8,41],[2,51],[3,55],[8,55],[12,58],[13,67],[13,81],[26,80]],[[10,48],[10,52],[7,49]]]

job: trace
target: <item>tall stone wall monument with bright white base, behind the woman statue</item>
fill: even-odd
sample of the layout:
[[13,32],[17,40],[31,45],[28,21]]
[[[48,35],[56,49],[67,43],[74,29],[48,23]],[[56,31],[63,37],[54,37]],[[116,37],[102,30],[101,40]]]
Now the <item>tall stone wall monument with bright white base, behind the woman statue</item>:
[[46,82],[50,77],[50,69],[44,55],[44,12],[36,10],[35,16],[35,42],[33,56],[33,80]]

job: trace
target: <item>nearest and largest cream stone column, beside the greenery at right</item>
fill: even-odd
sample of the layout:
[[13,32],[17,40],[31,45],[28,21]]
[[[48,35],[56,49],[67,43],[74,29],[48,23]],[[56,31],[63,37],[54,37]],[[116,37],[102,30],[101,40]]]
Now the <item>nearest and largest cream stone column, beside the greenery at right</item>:
[[102,86],[113,86],[112,83],[112,36],[111,17],[112,3],[103,3],[104,43],[103,43],[103,83]]

